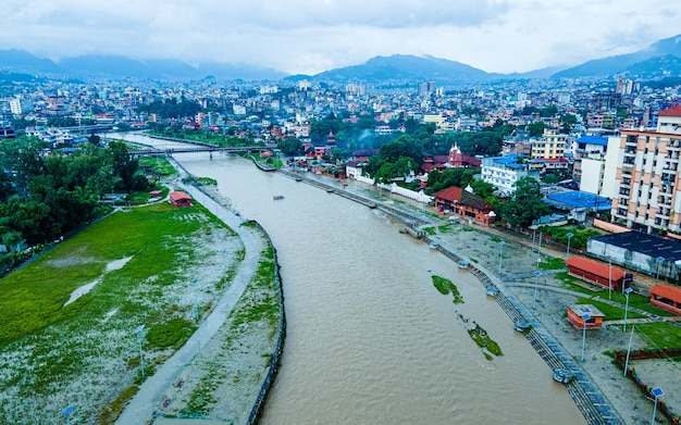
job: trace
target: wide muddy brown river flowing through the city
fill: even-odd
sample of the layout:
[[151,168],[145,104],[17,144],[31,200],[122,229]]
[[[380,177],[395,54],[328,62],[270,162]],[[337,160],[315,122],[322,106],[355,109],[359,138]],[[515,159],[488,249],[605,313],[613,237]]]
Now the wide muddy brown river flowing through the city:
[[[194,175],[216,179],[277,250],[288,327],[261,423],[585,423],[474,276],[400,234],[400,224],[240,158],[175,159]],[[465,303],[441,295],[433,275],[455,283]],[[503,357],[484,358],[467,333],[472,323]]]

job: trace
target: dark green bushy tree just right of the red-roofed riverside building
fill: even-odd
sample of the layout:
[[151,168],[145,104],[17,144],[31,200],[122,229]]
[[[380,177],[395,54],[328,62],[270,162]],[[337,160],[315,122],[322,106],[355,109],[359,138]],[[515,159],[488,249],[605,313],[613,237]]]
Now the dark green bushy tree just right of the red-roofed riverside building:
[[550,212],[542,200],[540,182],[523,177],[516,182],[516,191],[503,208],[502,215],[512,226],[528,227],[534,220]]

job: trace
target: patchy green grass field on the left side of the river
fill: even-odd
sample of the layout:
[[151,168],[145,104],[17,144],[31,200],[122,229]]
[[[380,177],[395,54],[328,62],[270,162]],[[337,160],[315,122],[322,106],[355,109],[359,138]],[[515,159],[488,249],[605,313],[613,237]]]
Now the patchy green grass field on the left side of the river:
[[148,377],[243,255],[205,208],[159,203],[116,212],[0,280],[0,423],[54,423],[73,404],[79,422],[110,422],[143,379],[135,329],[145,325]]

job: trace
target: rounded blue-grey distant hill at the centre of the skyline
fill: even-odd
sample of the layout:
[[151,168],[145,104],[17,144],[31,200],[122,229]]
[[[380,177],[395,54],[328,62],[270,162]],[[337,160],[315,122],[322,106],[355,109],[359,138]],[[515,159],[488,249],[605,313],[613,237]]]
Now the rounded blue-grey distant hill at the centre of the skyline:
[[368,84],[433,80],[438,86],[463,85],[490,78],[491,74],[459,62],[411,54],[375,57],[361,65],[325,71],[312,77],[323,82]]

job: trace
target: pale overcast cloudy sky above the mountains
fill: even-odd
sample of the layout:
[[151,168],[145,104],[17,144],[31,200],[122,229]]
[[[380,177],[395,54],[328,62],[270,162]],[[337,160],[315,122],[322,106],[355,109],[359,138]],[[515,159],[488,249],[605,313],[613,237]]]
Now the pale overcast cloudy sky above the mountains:
[[678,0],[22,0],[0,49],[315,74],[396,53],[487,71],[574,65],[681,34]]

